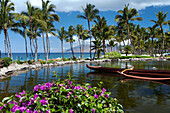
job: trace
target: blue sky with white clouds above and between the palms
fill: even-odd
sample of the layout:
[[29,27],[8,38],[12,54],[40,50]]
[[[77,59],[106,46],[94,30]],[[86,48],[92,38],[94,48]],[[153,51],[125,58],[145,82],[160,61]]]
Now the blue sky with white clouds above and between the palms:
[[[25,2],[26,0],[11,0],[15,3],[15,12],[21,12],[26,10]],[[41,7],[41,0],[30,0],[32,5],[36,7]],[[115,15],[117,11],[123,9],[125,4],[130,4],[129,7],[136,8],[139,11],[143,21],[134,22],[135,24],[140,24],[142,27],[152,26],[153,23],[149,20],[156,20],[155,13],[158,11],[170,12],[170,0],[51,0],[51,3],[56,5],[56,13],[60,16],[60,23],[55,22],[55,28],[60,29],[64,26],[67,30],[70,25],[82,24],[87,28],[86,20],[76,18],[77,15],[82,14],[82,6],[85,7],[86,3],[91,3],[99,9],[99,15],[104,16],[107,20],[108,25],[116,25],[114,22]],[[167,15],[167,20],[170,20],[170,13]],[[168,28],[164,26],[164,28]],[[9,36],[12,46],[12,52],[25,52],[24,39],[19,34],[16,34],[9,30]],[[75,36],[76,39],[76,36]],[[0,34],[0,49],[2,52],[4,49],[4,34]],[[89,41],[86,41],[88,43]],[[29,42],[28,42],[29,43]],[[61,52],[60,40],[57,37],[50,36],[51,52]],[[43,52],[42,38],[38,38],[38,52]],[[77,46],[78,42],[74,43]],[[64,49],[69,49],[69,43],[64,43]]]

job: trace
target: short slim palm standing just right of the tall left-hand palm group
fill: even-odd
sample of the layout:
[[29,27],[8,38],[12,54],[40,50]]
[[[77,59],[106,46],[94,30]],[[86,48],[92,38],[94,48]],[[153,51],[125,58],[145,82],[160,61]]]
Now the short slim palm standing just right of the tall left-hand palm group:
[[58,32],[57,37],[61,40],[62,58],[64,58],[64,55],[63,55],[63,40],[67,38],[66,31],[64,30],[64,27],[61,27],[61,30],[57,29],[57,32]]

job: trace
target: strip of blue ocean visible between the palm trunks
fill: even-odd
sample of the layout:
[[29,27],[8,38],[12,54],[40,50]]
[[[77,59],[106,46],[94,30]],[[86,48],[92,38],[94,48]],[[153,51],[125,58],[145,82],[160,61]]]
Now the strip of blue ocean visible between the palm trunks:
[[[76,58],[80,58],[80,53],[74,53]],[[93,56],[93,55],[92,55]],[[1,53],[1,57],[5,57],[5,53]],[[21,60],[25,61],[27,60],[26,53],[12,53],[13,60]],[[62,53],[50,53],[49,59],[55,59],[55,58],[61,58]],[[64,58],[71,58],[72,53],[64,53]],[[32,57],[31,53],[28,53],[29,60],[34,59]],[[84,53],[84,58],[90,58],[90,53]],[[37,59],[45,60],[45,54],[44,53],[38,53]]]

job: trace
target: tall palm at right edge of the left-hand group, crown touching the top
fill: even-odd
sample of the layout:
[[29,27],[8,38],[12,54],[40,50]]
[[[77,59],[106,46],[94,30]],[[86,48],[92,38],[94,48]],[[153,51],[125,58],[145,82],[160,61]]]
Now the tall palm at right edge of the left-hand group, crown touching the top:
[[[42,0],[43,20],[47,23],[47,27],[44,27],[44,32],[46,33],[47,59],[49,57],[49,51],[50,51],[49,49],[50,41],[49,41],[48,33],[50,32],[49,28],[51,28],[51,22],[60,21],[60,17],[57,14],[54,14],[56,6],[54,4],[49,4],[49,3],[50,3],[49,0],[47,0],[46,2]],[[44,35],[44,32],[43,32],[43,35]],[[44,45],[44,48],[45,48],[45,45]]]

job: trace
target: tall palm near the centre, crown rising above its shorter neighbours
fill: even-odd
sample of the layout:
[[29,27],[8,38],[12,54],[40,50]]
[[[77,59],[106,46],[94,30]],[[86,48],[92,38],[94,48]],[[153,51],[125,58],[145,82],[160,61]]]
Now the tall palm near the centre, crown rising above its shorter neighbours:
[[84,11],[84,16],[83,15],[77,15],[78,18],[86,19],[88,23],[88,29],[89,29],[89,36],[90,36],[90,59],[92,58],[91,56],[91,31],[90,31],[90,22],[92,22],[93,19],[98,17],[99,10],[94,9],[95,5],[91,4],[86,4],[86,8],[82,8]]

